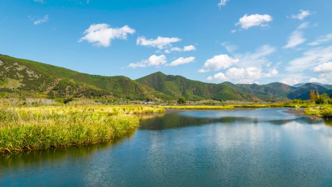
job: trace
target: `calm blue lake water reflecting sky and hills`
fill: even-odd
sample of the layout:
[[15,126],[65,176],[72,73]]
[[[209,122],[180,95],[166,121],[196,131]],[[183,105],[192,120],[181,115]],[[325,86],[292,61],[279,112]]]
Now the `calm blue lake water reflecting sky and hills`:
[[113,143],[0,155],[0,186],[331,187],[332,126],[284,110],[144,116]]

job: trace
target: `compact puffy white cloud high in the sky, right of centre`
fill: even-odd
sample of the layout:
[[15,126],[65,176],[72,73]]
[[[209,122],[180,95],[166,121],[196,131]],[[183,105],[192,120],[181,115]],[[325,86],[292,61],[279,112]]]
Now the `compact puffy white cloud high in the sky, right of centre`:
[[244,15],[239,19],[239,22],[235,23],[235,26],[241,25],[243,29],[249,29],[253,26],[259,27],[266,27],[267,22],[272,21],[272,17],[270,15],[259,15],[259,14],[252,14],[248,16],[247,14]]

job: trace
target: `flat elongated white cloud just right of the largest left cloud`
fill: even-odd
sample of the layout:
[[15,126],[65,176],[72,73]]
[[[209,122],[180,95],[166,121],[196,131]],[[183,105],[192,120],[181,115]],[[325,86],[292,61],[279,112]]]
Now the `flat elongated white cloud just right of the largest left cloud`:
[[172,43],[181,41],[178,37],[161,37],[157,39],[146,39],[144,36],[139,36],[136,40],[137,45],[156,47],[158,49],[165,49],[172,46]]

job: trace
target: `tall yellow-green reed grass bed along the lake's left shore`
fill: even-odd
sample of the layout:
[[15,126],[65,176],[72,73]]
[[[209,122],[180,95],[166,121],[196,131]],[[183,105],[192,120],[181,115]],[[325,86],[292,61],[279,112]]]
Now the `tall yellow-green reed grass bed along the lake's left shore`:
[[139,126],[132,114],[164,108],[124,106],[0,106],[0,153],[110,141]]

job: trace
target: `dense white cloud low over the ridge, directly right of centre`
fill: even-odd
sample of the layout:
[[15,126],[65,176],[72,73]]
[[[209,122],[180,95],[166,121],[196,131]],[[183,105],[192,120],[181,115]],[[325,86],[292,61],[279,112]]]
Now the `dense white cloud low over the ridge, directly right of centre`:
[[207,72],[210,70],[217,71],[221,68],[223,69],[229,68],[233,64],[236,64],[238,62],[239,62],[238,59],[234,59],[228,56],[227,54],[216,55],[213,58],[210,58],[207,61],[205,61],[203,66],[204,68],[199,69],[199,72]]

